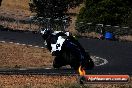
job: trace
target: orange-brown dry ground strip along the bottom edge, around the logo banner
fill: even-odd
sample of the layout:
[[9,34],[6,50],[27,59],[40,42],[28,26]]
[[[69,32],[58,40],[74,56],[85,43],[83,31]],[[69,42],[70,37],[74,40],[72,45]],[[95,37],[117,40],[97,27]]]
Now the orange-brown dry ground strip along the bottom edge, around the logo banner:
[[[132,78],[131,78],[132,79]],[[0,75],[1,88],[132,88],[132,82],[78,84],[77,76]]]

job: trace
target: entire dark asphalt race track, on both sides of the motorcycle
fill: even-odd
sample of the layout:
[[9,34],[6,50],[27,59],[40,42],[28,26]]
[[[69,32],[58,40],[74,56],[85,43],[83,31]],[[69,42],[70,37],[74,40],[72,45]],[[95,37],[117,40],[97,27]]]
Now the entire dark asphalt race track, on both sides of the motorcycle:
[[[0,41],[44,47],[40,34],[0,30]],[[108,63],[95,66],[88,74],[129,74],[132,75],[132,42],[118,42],[81,38],[79,42],[92,56],[101,57]],[[0,69],[0,74],[75,74],[72,69]]]

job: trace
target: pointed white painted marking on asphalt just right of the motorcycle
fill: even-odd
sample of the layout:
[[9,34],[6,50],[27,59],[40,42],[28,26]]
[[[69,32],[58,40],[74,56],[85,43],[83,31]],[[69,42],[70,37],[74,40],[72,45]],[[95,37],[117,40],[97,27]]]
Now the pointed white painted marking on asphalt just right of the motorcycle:
[[[101,66],[101,65],[105,65],[108,63],[108,61],[106,59],[97,57],[97,56],[91,56],[91,59],[95,63],[95,66]],[[98,63],[98,61],[101,61],[101,60],[102,60],[102,63]]]

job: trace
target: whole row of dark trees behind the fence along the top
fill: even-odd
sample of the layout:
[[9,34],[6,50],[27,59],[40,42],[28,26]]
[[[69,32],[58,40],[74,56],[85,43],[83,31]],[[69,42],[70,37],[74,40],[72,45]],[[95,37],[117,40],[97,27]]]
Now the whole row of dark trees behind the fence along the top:
[[[2,0],[0,0],[0,4],[1,2]],[[29,6],[31,12],[36,13],[36,17],[69,22],[70,16],[67,11],[81,3],[84,3],[84,7],[77,16],[77,23],[92,22],[93,24],[132,27],[131,0],[30,0]],[[63,21],[61,22],[63,23]]]

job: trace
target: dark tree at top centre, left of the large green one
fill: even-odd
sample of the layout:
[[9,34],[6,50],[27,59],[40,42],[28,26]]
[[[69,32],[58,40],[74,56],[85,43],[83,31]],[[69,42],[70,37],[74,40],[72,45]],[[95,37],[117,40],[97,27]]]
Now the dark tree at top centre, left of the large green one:
[[38,17],[62,18],[69,8],[74,8],[82,3],[82,0],[31,0],[30,10],[37,13]]

